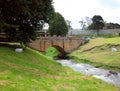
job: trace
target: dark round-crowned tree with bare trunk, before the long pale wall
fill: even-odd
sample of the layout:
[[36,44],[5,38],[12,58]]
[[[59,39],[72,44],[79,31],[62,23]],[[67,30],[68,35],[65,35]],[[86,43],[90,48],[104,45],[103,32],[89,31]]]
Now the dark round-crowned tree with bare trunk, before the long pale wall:
[[97,30],[97,35],[99,35],[99,30],[103,29],[104,27],[104,20],[100,15],[95,15],[92,18],[92,24],[90,25],[91,29],[96,29]]

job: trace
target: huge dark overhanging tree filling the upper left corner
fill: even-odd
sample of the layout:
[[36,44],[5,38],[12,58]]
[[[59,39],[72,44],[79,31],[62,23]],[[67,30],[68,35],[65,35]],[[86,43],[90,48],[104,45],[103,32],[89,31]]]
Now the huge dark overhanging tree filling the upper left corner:
[[39,21],[49,22],[53,14],[52,0],[0,0],[0,29],[26,45],[36,38]]

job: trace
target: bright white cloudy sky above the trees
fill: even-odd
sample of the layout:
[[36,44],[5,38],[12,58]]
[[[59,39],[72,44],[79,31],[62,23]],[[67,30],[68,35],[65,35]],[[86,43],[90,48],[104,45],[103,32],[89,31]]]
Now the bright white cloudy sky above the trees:
[[120,0],[53,0],[56,12],[71,21],[73,28],[80,28],[85,17],[100,15],[107,23],[120,24]]

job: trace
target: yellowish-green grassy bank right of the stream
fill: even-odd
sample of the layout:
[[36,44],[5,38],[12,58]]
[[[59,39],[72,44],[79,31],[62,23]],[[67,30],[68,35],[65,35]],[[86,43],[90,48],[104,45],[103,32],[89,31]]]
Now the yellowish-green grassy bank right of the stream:
[[[117,52],[112,52],[115,47]],[[78,61],[84,61],[96,66],[120,71],[120,37],[115,38],[96,38],[71,53],[77,57]]]

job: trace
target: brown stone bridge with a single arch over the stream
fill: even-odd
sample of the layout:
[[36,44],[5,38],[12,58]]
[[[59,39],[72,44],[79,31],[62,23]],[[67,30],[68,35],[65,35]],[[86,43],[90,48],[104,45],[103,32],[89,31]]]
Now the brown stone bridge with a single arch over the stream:
[[48,47],[52,46],[63,53],[73,51],[86,42],[86,40],[77,37],[40,37],[32,41],[29,46],[41,52],[45,52]]

